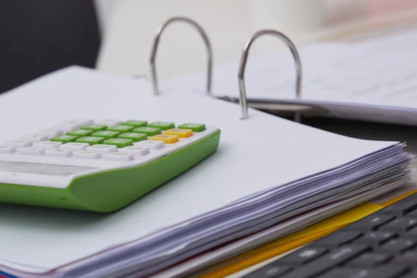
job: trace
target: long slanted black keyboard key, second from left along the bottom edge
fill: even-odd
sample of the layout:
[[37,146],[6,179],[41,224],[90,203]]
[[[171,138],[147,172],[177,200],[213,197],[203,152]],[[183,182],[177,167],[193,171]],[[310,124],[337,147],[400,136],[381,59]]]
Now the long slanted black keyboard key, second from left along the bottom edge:
[[368,246],[350,245],[338,247],[335,250],[320,256],[318,259],[310,261],[305,265],[300,265],[293,272],[289,272],[285,278],[312,278],[321,273],[341,265],[350,259],[359,256],[363,252],[370,250]]

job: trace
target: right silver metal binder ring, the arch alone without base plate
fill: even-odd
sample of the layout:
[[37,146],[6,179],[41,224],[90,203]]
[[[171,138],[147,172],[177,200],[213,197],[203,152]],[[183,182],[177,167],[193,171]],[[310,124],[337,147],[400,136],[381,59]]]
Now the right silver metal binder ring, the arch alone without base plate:
[[[302,82],[302,74],[301,74],[301,61],[300,61],[300,55],[298,55],[297,48],[291,42],[291,40],[286,37],[283,33],[280,33],[275,30],[261,30],[257,31],[252,35],[252,38],[247,40],[245,43],[245,47],[243,47],[243,53],[242,57],[240,58],[240,67],[238,72],[238,79],[239,79],[239,101],[240,101],[240,108],[242,110],[242,119],[246,119],[249,117],[247,114],[247,98],[246,98],[246,88],[245,88],[245,67],[247,62],[247,56],[249,54],[250,47],[252,43],[262,35],[275,35],[275,37],[283,40],[285,44],[290,48],[291,53],[293,54],[294,60],[295,60],[295,70],[297,74],[297,81],[295,83],[295,96],[297,99],[300,99],[301,97],[301,82]],[[295,122],[300,122],[300,113],[295,113]]]

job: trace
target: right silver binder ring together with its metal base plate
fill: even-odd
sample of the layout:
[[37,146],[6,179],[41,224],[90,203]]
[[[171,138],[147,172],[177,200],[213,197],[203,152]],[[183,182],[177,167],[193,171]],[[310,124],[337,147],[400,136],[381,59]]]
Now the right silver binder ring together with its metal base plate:
[[[280,33],[279,31],[270,30],[270,29],[264,29],[257,31],[252,35],[252,37],[247,40],[245,43],[245,47],[243,47],[243,53],[240,58],[240,66],[239,66],[239,72],[238,72],[238,79],[239,79],[239,103],[242,110],[242,119],[246,119],[249,117],[247,113],[247,106],[250,106],[252,108],[256,108],[259,110],[265,110],[270,111],[273,114],[279,114],[279,113],[295,113],[294,120],[295,122],[301,121],[301,115],[311,114],[314,113],[325,113],[325,111],[322,108],[318,108],[316,106],[309,106],[305,104],[296,104],[291,103],[291,101],[288,102],[278,102],[278,101],[269,101],[269,100],[251,100],[247,99],[246,97],[246,88],[245,88],[245,68],[247,63],[247,56],[249,55],[250,47],[252,46],[253,42],[263,36],[263,35],[275,35],[275,37],[281,39],[285,42],[285,44],[290,48],[291,53],[293,54],[293,58],[295,61],[295,70],[296,70],[296,76],[297,80],[295,83],[295,97],[297,99],[301,98],[301,87],[302,87],[302,67],[301,67],[301,59],[300,55],[298,54],[297,47],[291,42],[291,40],[284,35],[283,33]],[[224,97],[223,99],[236,102],[236,100]]]

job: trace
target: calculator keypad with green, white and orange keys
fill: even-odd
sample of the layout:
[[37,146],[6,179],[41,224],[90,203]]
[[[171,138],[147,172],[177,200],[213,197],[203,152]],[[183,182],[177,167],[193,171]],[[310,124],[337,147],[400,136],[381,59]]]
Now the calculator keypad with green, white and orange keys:
[[142,165],[197,142],[216,130],[207,130],[204,124],[177,126],[174,122],[162,121],[149,121],[148,124],[142,119],[69,120],[22,138],[0,142],[0,161],[92,169]]

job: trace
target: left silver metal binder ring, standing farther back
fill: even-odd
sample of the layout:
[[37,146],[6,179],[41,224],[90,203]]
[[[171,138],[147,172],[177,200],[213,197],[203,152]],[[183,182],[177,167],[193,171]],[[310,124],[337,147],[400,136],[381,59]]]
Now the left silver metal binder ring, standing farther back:
[[198,33],[202,35],[204,43],[206,44],[206,49],[207,49],[207,54],[208,54],[207,56],[207,93],[210,94],[211,93],[212,65],[213,65],[213,51],[211,49],[211,43],[210,43],[210,40],[208,40],[208,36],[206,35],[206,32],[204,31],[202,26],[199,26],[199,24],[197,24],[197,22],[195,22],[193,19],[189,19],[187,17],[171,17],[163,25],[161,25],[156,31],[154,45],[152,46],[152,54],[151,54],[150,62],[151,62],[151,70],[152,70],[152,85],[154,87],[154,95],[159,95],[158,79],[156,77],[156,65],[155,65],[156,51],[158,50],[159,39],[161,38],[162,32],[172,22],[188,23],[194,28],[196,28]]

